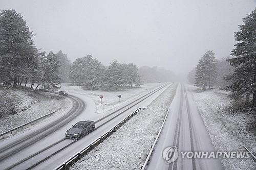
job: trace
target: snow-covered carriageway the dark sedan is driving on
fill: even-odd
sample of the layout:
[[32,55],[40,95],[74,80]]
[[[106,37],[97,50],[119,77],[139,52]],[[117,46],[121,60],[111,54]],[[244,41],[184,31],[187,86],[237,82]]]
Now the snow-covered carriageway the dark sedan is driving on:
[[[116,125],[125,116],[131,114],[134,110],[136,110],[139,107],[145,107],[148,104],[150,104],[168,86],[169,85],[161,88],[160,90],[156,91],[152,95],[149,95],[148,97],[143,98],[143,100],[141,102],[139,102],[138,104],[132,105],[132,107],[128,106],[129,109],[124,108],[123,110],[119,110],[119,112],[122,112],[122,111],[124,111],[124,112],[120,116],[115,118],[113,121],[111,121],[108,124],[105,124],[104,126],[98,128],[93,133],[87,135],[86,137],[82,138],[81,140],[78,140],[77,142],[72,144],[69,148],[67,148],[67,149],[63,150],[62,152],[54,155],[53,157],[51,157],[51,159],[46,160],[45,162],[39,164],[35,168],[36,169],[53,169],[54,167],[58,166],[60,163],[65,161],[67,158],[69,158],[70,156],[72,156],[73,154],[75,154],[76,152],[81,150],[83,147],[85,147],[87,144],[89,144],[90,142],[95,140],[98,136],[100,136],[103,133],[105,133],[106,131],[108,131],[110,128],[112,128],[113,125]],[[150,90],[150,91],[152,91],[152,90]],[[41,139],[40,141],[38,141],[34,144],[31,144],[26,149],[24,149],[22,151],[19,151],[16,154],[14,154],[14,155],[8,157],[7,159],[4,159],[3,161],[1,161],[0,162],[1,169],[2,168],[5,169],[7,167],[10,167],[10,165],[18,163],[19,161],[22,161],[24,158],[29,157],[34,153],[37,153],[38,151],[48,147],[49,145],[55,143],[58,140],[61,140],[63,137],[65,137],[65,131],[67,129],[69,129],[72,126],[72,124],[74,124],[76,121],[81,120],[81,119],[82,120],[83,119],[97,120],[98,118],[101,118],[102,116],[108,114],[108,112],[105,113],[105,114],[95,114],[95,104],[90,98],[87,98],[86,96],[84,96],[82,94],[73,94],[73,95],[86,102],[86,104],[87,104],[86,109],[80,115],[78,115],[76,118],[74,118],[70,123],[66,124],[65,126],[61,127],[60,129],[56,130],[51,135]],[[140,98],[140,96],[138,96],[138,98]],[[124,105],[127,105],[127,104],[124,104]],[[122,106],[120,106],[120,107],[122,107]],[[113,111],[114,110],[111,110],[111,112],[113,112]],[[117,112],[117,114],[118,114],[118,112]],[[43,126],[43,125],[40,125],[40,126]],[[40,126],[38,126],[38,128]],[[29,133],[29,132],[26,132],[26,133]],[[24,135],[24,134],[17,135],[17,136],[15,136],[15,138],[22,137],[22,135]],[[57,144],[53,148],[50,148],[46,152],[42,152],[42,153],[32,157],[32,159],[28,159],[23,163],[17,164],[18,166],[14,166],[13,169],[26,169],[26,168],[30,167],[31,165],[33,165],[34,163],[36,163],[36,162],[46,158],[47,156],[51,155],[52,152],[56,151],[56,148],[58,148],[58,147],[61,148],[61,147],[63,147],[63,145],[65,146],[70,141],[72,141],[72,140],[67,139],[64,142],[61,142],[61,144]],[[8,143],[8,140],[4,141],[4,143],[2,142],[0,144],[0,146],[4,147],[5,143]]]

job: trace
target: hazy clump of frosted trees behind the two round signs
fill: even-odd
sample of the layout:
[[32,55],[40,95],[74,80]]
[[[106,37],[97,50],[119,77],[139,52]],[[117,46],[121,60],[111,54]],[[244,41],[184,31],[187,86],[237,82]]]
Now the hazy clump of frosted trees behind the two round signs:
[[114,90],[121,86],[140,85],[138,67],[133,63],[121,64],[114,60],[109,66],[104,66],[92,55],[78,58],[73,62],[70,68],[70,81],[73,85],[83,86],[86,90]]

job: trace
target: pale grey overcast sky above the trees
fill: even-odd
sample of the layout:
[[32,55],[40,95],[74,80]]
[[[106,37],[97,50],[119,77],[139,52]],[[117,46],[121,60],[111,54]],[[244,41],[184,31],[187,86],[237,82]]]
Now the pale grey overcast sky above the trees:
[[242,18],[255,0],[10,1],[43,51],[62,50],[73,62],[92,54],[186,74],[207,50],[228,56]]

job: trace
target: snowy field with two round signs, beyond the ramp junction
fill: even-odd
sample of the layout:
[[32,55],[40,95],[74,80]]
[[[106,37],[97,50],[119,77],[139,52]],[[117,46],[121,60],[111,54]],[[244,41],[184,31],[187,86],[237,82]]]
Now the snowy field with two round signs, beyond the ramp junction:
[[[91,98],[95,103],[95,113],[101,114],[128,103],[134,98],[137,98],[137,96],[148,92],[148,90],[153,90],[163,84],[164,83],[147,83],[141,85],[140,88],[123,89],[120,91],[83,90],[81,86],[61,84],[61,90],[66,90],[69,93],[82,94]],[[122,96],[120,102],[118,98],[119,94]],[[102,104],[100,104],[99,95],[103,95]]]

